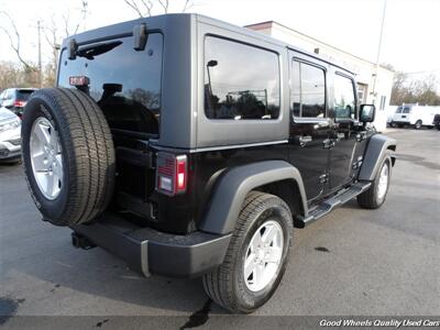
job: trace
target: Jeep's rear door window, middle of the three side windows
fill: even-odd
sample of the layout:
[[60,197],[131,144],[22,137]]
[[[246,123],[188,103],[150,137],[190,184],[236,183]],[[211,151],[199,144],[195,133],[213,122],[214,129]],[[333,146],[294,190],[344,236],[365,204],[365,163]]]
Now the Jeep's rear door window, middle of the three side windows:
[[295,117],[326,117],[326,74],[312,65],[292,64],[290,100]]

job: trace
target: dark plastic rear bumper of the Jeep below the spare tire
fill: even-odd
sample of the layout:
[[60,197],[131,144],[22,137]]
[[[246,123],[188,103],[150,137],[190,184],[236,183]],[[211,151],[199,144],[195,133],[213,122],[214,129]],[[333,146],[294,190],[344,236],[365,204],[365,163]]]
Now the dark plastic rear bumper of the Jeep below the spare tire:
[[111,216],[105,221],[73,226],[72,229],[124,260],[144,276],[199,276],[223,262],[231,240],[231,234],[216,235],[201,231],[188,235],[163,233]]

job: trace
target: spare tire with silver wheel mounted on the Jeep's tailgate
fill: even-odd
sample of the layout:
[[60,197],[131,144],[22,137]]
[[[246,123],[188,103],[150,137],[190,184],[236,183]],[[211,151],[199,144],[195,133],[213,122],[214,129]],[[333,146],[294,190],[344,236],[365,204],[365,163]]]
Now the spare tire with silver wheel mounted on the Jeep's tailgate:
[[114,186],[114,147],[98,105],[85,92],[45,88],[32,94],[22,122],[28,186],[43,215],[56,226],[96,219]]

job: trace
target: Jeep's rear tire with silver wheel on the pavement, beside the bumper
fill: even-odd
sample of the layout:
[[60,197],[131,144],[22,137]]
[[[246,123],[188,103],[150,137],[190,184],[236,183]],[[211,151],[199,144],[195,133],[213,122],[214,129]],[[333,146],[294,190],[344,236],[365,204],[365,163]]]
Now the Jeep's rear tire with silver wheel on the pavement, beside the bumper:
[[251,191],[220,267],[204,275],[207,295],[232,312],[249,314],[264,305],[286,271],[293,219],[278,197]]

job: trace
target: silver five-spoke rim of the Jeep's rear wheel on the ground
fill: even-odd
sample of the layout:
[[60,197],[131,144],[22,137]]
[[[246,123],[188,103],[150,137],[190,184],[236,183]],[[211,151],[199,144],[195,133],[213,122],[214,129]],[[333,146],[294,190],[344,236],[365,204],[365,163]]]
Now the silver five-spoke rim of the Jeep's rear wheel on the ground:
[[264,222],[252,237],[244,261],[244,283],[251,292],[265,288],[276,276],[283,256],[283,229],[277,221]]

